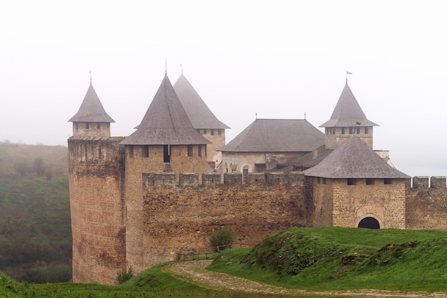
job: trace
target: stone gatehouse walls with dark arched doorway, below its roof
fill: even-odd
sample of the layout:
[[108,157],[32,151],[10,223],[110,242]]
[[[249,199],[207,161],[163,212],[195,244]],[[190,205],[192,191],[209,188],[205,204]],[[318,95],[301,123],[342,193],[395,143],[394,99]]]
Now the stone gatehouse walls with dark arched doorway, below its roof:
[[374,179],[371,185],[365,179],[356,179],[355,185],[348,185],[346,179],[316,180],[313,178],[314,226],[357,227],[364,217],[374,217],[381,228],[405,229],[406,180],[385,184],[383,179]]

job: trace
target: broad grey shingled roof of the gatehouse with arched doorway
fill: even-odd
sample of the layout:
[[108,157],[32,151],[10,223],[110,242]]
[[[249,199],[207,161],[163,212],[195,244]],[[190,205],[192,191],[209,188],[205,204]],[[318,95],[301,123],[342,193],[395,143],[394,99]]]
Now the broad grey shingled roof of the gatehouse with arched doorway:
[[363,140],[351,135],[331,154],[313,168],[304,171],[306,176],[321,178],[410,178],[392,168]]

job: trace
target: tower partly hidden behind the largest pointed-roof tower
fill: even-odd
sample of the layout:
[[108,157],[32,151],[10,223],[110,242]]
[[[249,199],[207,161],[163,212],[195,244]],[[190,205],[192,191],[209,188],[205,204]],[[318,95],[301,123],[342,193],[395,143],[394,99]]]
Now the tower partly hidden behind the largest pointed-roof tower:
[[217,150],[224,147],[225,130],[229,127],[216,118],[183,73],[174,83],[174,90],[194,129],[211,142],[206,146],[206,156],[211,167],[216,168],[222,160],[222,153]]

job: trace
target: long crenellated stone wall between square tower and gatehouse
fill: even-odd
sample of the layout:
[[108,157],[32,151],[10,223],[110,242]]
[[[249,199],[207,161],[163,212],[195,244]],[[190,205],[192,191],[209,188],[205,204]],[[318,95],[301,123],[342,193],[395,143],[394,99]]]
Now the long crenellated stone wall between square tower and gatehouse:
[[193,252],[209,252],[209,233],[220,227],[236,232],[243,245],[254,245],[273,232],[309,225],[303,173],[249,175],[188,174],[176,184],[171,173],[143,175],[144,267]]

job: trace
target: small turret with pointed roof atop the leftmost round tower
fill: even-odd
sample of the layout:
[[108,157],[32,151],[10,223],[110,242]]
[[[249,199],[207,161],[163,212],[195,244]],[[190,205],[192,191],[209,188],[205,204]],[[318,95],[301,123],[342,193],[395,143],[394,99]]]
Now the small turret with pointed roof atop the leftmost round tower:
[[75,137],[110,136],[110,123],[115,121],[107,115],[91,81],[78,113],[71,117],[69,122],[73,122],[73,135]]

